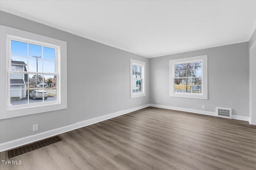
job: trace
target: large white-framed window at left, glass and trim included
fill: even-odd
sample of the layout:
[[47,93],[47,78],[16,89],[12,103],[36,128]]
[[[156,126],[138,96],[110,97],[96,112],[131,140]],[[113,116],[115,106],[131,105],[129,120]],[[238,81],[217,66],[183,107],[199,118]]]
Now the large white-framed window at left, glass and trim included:
[[1,119],[65,109],[66,42],[2,25],[1,38]]

